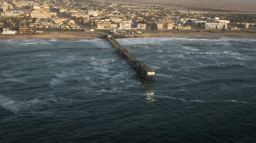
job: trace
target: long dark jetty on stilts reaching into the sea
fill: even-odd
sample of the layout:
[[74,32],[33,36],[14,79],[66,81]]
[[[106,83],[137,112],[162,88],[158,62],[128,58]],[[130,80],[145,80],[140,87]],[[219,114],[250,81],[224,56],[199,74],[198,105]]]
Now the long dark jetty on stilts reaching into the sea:
[[137,70],[137,72],[141,73],[146,78],[151,77],[151,79],[154,78],[155,80],[155,70],[153,70],[153,68],[150,68],[148,64],[136,59],[130,52],[128,52],[128,50],[125,47],[123,47],[110,35],[105,37],[108,40],[108,42],[110,42],[110,44],[116,48],[116,51]]

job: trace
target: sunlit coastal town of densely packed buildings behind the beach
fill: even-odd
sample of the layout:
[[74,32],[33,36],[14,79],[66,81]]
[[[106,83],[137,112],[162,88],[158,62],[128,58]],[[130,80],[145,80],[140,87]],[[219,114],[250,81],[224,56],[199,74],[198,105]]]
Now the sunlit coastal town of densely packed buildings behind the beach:
[[139,36],[147,33],[256,32],[256,13],[166,9],[96,1],[0,0],[2,34],[69,33]]

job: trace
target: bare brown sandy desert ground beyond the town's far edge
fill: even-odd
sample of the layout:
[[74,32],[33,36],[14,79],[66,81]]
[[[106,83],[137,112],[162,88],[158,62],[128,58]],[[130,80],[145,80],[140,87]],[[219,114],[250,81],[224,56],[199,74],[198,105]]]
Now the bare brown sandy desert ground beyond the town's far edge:
[[[105,0],[96,0],[106,2]],[[139,6],[163,6],[166,8],[211,8],[230,11],[256,12],[255,0],[108,0],[112,3],[125,3]]]

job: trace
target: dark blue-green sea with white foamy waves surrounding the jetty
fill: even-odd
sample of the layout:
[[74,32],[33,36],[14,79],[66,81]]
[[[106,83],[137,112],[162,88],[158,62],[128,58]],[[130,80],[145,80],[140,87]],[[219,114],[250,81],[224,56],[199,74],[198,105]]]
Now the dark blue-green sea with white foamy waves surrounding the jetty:
[[256,39],[0,40],[0,142],[255,142]]

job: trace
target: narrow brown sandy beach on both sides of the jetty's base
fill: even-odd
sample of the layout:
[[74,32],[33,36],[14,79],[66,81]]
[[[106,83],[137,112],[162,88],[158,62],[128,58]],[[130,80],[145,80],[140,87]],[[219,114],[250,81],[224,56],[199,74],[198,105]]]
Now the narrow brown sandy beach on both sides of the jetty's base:
[[[75,33],[74,33],[75,34]],[[145,37],[229,37],[229,38],[256,38],[256,33],[150,33],[133,38]],[[79,36],[64,33],[57,34],[0,34],[0,40],[5,39],[94,39],[97,37]]]

